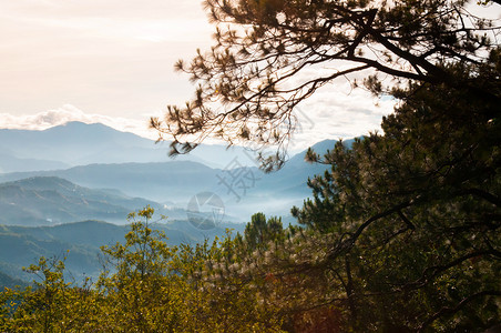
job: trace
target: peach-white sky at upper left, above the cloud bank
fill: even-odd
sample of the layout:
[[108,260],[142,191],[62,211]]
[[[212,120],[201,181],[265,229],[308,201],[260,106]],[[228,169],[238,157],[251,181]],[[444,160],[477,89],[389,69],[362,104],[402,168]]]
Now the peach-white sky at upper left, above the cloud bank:
[[132,119],[191,97],[178,58],[211,46],[198,1],[0,0],[0,112],[64,104]]

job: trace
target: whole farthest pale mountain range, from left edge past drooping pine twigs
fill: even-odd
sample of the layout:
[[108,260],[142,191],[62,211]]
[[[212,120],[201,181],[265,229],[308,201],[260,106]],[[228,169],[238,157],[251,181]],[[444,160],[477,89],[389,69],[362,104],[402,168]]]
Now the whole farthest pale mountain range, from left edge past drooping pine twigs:
[[[116,131],[101,123],[69,122],[44,131],[0,129],[0,172],[67,169],[92,163],[166,162],[168,142]],[[235,157],[248,165],[244,150],[203,145],[177,161],[225,168]]]

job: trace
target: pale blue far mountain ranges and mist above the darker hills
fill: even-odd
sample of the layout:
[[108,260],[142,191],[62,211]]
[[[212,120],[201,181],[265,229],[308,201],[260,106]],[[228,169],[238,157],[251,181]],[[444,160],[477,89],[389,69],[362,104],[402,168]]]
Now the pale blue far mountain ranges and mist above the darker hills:
[[[242,148],[201,145],[173,160],[167,157],[167,145],[103,124],[80,122],[45,131],[0,130],[0,147],[9,157],[0,159],[0,169],[12,171],[12,161],[31,161],[20,168],[23,172],[0,173],[0,182],[57,176],[90,189],[113,189],[120,195],[143,198],[143,202],[170,209],[185,209],[197,193],[213,192],[225,202],[229,220],[245,222],[257,211],[287,215],[294,204],[309,195],[307,178],[325,170],[304,162],[304,152],[294,155],[280,171],[265,174],[255,167],[253,152]],[[334,141],[323,141],[318,147],[325,151],[325,147],[334,147]],[[6,190],[0,188],[0,198]]]

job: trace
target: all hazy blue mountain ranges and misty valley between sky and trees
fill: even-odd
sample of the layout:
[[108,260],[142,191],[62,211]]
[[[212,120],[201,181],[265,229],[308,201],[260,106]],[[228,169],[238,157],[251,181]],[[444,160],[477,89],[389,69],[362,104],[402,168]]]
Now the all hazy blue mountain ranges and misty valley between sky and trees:
[[[321,153],[334,143],[314,149]],[[222,235],[225,228],[242,231],[256,212],[283,216],[287,224],[290,208],[310,195],[308,176],[326,169],[306,163],[305,152],[265,174],[254,152],[243,148],[201,145],[176,159],[168,150],[167,143],[99,123],[0,130],[0,283],[27,281],[23,265],[67,250],[76,280],[95,276],[99,246],[123,240],[126,215],[147,204],[168,216],[155,228],[172,244]],[[207,193],[222,204],[200,202]],[[188,223],[193,202],[203,219],[214,219],[215,210],[223,218],[209,229],[195,228]]]

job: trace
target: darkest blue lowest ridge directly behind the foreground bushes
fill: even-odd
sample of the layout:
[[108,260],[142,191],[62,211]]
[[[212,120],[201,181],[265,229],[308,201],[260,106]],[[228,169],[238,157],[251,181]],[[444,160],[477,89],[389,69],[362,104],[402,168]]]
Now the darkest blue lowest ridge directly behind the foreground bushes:
[[[223,235],[226,228],[242,231],[241,225],[223,224],[207,232],[196,230],[187,221],[154,223],[152,229],[165,232],[167,244],[203,242]],[[31,281],[34,276],[22,271],[38,262],[40,256],[67,256],[68,278],[81,283],[85,276],[98,278],[102,270],[100,246],[124,242],[126,225],[99,221],[83,221],[54,226],[0,225],[0,286],[19,284],[18,279]]]

